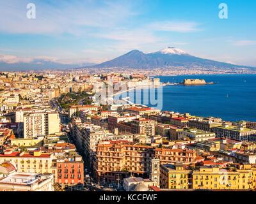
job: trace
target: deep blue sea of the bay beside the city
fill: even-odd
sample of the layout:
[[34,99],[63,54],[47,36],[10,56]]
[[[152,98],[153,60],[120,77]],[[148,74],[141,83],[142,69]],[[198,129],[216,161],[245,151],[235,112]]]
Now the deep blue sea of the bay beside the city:
[[[179,83],[186,78],[214,82],[213,85],[163,86],[162,110],[220,117],[228,121],[256,121],[256,75],[179,75],[157,78],[165,83]],[[154,106],[143,102],[143,91],[140,95],[141,104]],[[132,98],[130,101],[135,102]]]

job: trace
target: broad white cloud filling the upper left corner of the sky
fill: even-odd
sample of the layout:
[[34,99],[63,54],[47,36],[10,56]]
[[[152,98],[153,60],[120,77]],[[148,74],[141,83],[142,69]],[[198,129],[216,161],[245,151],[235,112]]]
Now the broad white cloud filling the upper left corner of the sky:
[[28,3],[27,0],[1,2],[0,31],[84,34],[87,29],[115,26],[124,18],[136,15],[129,1],[58,1],[58,6],[35,1],[36,19],[29,20],[26,18]]

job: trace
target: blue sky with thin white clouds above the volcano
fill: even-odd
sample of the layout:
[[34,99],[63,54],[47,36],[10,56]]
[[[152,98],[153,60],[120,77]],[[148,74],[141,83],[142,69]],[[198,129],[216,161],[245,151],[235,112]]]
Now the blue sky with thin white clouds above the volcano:
[[[34,3],[36,18],[27,17]],[[219,17],[219,5],[228,18]],[[0,0],[0,62],[100,63],[137,49],[177,47],[256,66],[256,1]]]

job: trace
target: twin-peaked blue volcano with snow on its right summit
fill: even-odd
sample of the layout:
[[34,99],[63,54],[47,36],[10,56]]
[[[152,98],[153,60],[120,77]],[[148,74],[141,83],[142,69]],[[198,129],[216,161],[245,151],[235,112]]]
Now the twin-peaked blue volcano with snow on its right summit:
[[230,64],[190,55],[179,48],[168,47],[158,52],[145,54],[140,50],[131,50],[110,61],[93,65],[93,68],[127,67],[127,68],[161,68],[177,66],[202,66],[219,68],[250,68],[249,66]]

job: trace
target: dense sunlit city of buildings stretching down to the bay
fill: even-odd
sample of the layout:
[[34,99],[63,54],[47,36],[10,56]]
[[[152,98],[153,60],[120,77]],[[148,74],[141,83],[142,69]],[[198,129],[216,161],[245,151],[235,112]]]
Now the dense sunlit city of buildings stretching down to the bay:
[[99,100],[152,75],[1,72],[0,191],[255,191],[256,122]]

